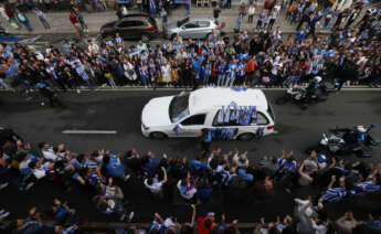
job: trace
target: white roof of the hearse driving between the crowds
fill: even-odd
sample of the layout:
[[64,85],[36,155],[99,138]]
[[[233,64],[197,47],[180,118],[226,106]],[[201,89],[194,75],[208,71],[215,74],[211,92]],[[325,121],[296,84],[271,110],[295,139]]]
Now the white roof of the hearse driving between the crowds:
[[200,88],[191,93],[189,97],[189,111],[200,113],[204,109],[221,108],[232,102],[239,106],[255,106],[266,110],[268,108],[265,94],[256,88]]

